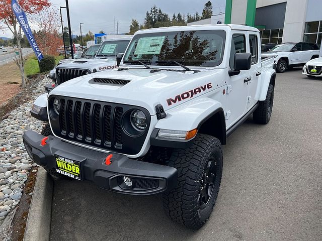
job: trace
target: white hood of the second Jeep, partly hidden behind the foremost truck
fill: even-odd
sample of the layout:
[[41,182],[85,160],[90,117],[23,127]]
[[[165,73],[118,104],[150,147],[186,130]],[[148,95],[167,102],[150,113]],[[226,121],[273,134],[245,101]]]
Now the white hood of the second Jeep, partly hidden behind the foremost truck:
[[117,68],[116,59],[74,59],[71,62],[58,65],[58,68],[89,69],[97,72]]

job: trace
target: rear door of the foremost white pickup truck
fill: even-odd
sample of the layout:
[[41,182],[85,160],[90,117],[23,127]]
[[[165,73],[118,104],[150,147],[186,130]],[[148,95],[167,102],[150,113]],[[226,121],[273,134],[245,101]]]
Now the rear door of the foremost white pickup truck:
[[248,48],[252,54],[252,64],[250,69],[251,80],[249,81],[249,95],[247,100],[247,109],[250,109],[256,102],[255,96],[257,87],[262,77],[262,64],[259,57],[259,40],[256,33],[249,32],[248,34]]

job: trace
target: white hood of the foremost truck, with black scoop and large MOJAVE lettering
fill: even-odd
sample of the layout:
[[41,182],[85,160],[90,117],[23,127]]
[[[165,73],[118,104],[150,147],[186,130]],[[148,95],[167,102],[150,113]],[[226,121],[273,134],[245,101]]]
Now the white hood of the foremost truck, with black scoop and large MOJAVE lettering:
[[[151,73],[149,69],[132,68],[89,74],[62,83],[50,95],[136,105],[155,114],[157,104],[168,110],[225,84],[224,69],[203,69],[197,73],[171,70]],[[94,79],[107,79],[113,83],[124,81],[122,85],[102,84],[94,83]]]

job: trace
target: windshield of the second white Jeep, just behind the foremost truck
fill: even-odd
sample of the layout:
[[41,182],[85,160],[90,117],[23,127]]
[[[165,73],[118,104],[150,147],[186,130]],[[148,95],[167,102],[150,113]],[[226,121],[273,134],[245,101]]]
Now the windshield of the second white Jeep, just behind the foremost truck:
[[116,57],[118,53],[124,53],[130,40],[105,41],[96,54],[96,57]]

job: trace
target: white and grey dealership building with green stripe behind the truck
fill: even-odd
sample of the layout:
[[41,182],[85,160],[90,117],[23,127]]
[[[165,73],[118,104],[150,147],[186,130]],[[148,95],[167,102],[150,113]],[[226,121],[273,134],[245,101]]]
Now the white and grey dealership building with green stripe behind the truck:
[[194,24],[246,24],[262,43],[322,41],[322,0],[226,0],[225,14]]

